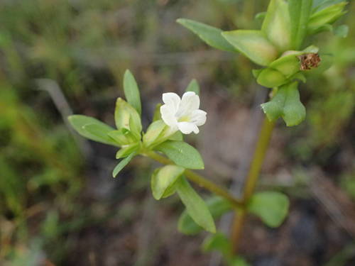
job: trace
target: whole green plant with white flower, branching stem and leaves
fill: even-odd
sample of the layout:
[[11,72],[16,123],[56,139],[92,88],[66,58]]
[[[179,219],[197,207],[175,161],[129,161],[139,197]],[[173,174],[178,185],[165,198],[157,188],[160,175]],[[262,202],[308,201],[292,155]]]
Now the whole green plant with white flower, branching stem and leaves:
[[[271,0],[268,10],[257,16],[263,18],[260,30],[222,31],[204,23],[185,18],[178,23],[196,33],[205,43],[228,52],[240,52],[259,67],[253,77],[263,87],[271,89],[270,101],[261,104],[266,119],[261,127],[258,143],[241,199],[192,170],[204,169],[200,153],[186,143],[184,134],[199,133],[207,113],[200,109],[200,87],[196,80],[187,86],[181,97],[173,92],[162,96],[150,126],[143,131],[141,97],[138,85],[129,70],[124,74],[124,99],[117,99],[112,128],[95,118],[74,115],[69,117],[80,135],[118,148],[118,164],[113,177],[138,155],[150,157],[163,167],[153,171],[151,191],[157,200],[178,194],[186,210],[180,216],[178,228],[194,235],[202,230],[213,235],[204,241],[204,250],[219,250],[229,265],[246,265],[238,253],[240,232],[247,214],[254,214],[272,228],[280,226],[288,214],[289,201],[280,192],[254,192],[271,133],[278,118],[286,126],[296,126],[305,119],[306,109],[300,101],[299,83],[307,75],[326,70],[331,56],[323,55],[306,39],[322,31],[346,35],[346,26],[333,28],[332,23],[344,13],[346,1],[336,0]],[[190,182],[212,192],[202,199]],[[216,233],[214,220],[235,211],[231,237]]]

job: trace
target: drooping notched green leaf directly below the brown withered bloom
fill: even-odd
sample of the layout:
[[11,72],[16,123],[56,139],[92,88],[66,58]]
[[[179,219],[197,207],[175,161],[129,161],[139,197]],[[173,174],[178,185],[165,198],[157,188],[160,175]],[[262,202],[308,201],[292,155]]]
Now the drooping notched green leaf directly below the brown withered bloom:
[[266,104],[261,104],[270,121],[282,117],[287,126],[297,126],[305,119],[305,106],[300,101],[297,82],[286,84]]

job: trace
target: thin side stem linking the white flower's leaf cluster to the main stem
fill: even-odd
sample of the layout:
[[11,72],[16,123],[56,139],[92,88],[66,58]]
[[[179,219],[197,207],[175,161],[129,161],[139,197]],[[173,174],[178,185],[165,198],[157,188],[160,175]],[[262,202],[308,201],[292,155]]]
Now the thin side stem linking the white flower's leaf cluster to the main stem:
[[[171,165],[174,164],[172,161],[170,161],[167,157],[164,157],[162,155],[159,155],[158,153],[154,153],[151,151],[148,151],[146,153],[142,153],[143,155],[146,155],[147,157],[150,157],[151,159],[160,162],[163,165]],[[237,209],[243,209],[244,204],[239,200],[234,198],[228,190],[219,187],[219,185],[215,184],[214,182],[209,181],[208,179],[202,177],[202,175],[197,174],[196,172],[192,172],[191,170],[185,170],[185,176],[190,179],[192,182],[195,182],[198,184],[200,187],[204,187],[204,189],[209,190],[210,192],[213,192],[214,194],[217,194],[219,196],[224,197],[224,199],[228,200],[233,204]]]

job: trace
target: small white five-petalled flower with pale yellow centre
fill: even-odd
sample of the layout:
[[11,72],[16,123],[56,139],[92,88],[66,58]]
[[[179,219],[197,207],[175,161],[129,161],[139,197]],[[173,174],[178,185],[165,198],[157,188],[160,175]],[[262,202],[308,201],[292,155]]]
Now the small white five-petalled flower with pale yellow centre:
[[161,118],[173,131],[199,133],[197,126],[206,122],[207,113],[199,109],[200,97],[195,92],[185,92],[182,99],[178,94],[168,92],[163,94],[163,102],[160,107]]

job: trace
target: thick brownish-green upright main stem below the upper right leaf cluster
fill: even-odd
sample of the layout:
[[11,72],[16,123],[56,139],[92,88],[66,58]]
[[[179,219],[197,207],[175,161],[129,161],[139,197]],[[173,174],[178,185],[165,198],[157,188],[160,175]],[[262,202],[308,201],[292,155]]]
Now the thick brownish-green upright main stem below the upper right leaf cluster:
[[[255,152],[253,155],[253,160],[251,161],[251,166],[249,169],[248,176],[246,177],[246,184],[244,187],[242,202],[244,206],[248,204],[249,199],[253,195],[256,183],[258,182],[258,177],[260,174],[261,166],[263,165],[263,160],[266,155],[266,150],[268,150],[268,145],[271,140],[271,135],[273,133],[273,128],[275,127],[275,122],[268,121],[268,118],[264,118],[263,126],[258,137],[258,143],[256,144]],[[241,231],[243,228],[243,223],[246,216],[246,209],[236,211],[234,216],[234,221],[232,225],[231,241],[234,253],[237,253],[239,248],[239,239],[241,238]]]

